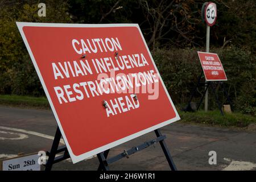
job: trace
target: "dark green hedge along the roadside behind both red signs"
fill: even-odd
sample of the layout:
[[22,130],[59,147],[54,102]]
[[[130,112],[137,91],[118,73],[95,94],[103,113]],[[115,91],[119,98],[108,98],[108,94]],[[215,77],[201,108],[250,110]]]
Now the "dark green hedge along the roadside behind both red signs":
[[[203,50],[201,50],[203,51]],[[256,63],[255,55],[237,48],[212,49],[218,53],[228,81],[226,89],[234,108],[243,113],[255,114],[256,108]],[[202,69],[196,49],[156,49],[152,52],[156,66],[170,92],[172,100],[180,108],[189,100],[191,90],[197,82]],[[0,71],[0,94],[23,96],[44,96],[42,85],[28,55],[16,62],[7,71]],[[1,67],[0,67],[1,68]],[[221,88],[217,88],[222,104],[226,103]],[[203,88],[195,101],[199,101]],[[202,105],[203,106],[203,105]],[[216,109],[213,93],[209,92],[209,108]]]

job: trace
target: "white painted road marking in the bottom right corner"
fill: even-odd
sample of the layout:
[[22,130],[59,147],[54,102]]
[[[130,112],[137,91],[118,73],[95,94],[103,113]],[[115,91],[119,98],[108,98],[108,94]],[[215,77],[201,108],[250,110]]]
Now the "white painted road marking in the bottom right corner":
[[224,158],[224,160],[230,162],[229,166],[222,169],[222,171],[249,171],[256,168],[255,163],[238,161]]

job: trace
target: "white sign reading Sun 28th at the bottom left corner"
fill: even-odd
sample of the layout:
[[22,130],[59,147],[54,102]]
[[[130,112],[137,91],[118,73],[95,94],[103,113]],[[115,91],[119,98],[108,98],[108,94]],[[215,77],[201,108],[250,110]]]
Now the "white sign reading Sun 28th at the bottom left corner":
[[20,156],[20,158],[3,160],[3,171],[40,171],[38,154]]

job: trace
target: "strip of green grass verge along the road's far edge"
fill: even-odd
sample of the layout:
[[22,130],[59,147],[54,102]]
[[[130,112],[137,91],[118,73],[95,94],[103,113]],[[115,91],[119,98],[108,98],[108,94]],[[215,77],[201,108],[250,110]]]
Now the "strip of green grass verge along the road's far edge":
[[[0,105],[28,107],[35,109],[49,109],[49,102],[46,97],[30,97],[30,96],[15,96],[15,95],[0,95]],[[181,118],[180,122],[184,123],[200,123],[211,126],[224,127],[246,127],[250,123],[256,124],[256,117],[241,113],[225,113],[221,115],[219,110],[196,111],[194,113],[179,111]]]

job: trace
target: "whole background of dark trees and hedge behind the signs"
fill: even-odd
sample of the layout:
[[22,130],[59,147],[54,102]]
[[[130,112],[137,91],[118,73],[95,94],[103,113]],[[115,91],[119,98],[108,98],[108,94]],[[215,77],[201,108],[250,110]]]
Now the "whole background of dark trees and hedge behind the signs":
[[[46,17],[38,3],[46,3]],[[195,0],[0,0],[0,94],[44,96],[15,22],[138,23],[176,105],[188,101],[201,66],[196,51],[204,51],[205,24]],[[216,0],[218,18],[210,32],[210,52],[219,54],[226,87],[237,110],[255,114],[256,2]],[[202,90],[199,90],[200,92]],[[212,94],[210,94],[212,96]],[[220,98],[223,93],[219,92]],[[197,95],[200,97],[200,93]],[[210,108],[216,105],[210,97]],[[225,99],[222,99],[225,103]]]

